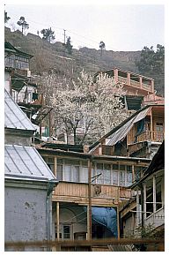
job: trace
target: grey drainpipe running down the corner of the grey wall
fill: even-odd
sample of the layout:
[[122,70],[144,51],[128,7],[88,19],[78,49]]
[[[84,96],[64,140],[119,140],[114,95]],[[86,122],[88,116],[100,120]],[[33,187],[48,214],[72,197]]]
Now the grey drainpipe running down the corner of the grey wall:
[[[52,236],[52,192],[55,186],[58,184],[56,179],[48,181],[47,198],[46,198],[46,229],[47,229],[47,241],[50,241]],[[47,248],[50,251],[50,248]]]

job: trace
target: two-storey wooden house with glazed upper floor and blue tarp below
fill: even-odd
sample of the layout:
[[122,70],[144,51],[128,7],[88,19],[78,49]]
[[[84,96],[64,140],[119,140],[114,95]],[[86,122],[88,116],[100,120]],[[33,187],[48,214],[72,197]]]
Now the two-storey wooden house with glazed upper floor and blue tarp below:
[[52,195],[53,239],[120,237],[120,204],[129,201],[129,186],[150,160],[92,155],[66,146],[36,146],[59,180]]

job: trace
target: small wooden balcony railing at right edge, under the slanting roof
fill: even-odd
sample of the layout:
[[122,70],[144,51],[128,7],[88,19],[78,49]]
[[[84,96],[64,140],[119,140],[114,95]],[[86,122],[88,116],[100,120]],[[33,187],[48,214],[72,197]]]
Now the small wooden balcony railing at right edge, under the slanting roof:
[[164,139],[165,139],[164,132],[145,131],[137,136],[137,142],[142,142],[142,141],[163,142]]

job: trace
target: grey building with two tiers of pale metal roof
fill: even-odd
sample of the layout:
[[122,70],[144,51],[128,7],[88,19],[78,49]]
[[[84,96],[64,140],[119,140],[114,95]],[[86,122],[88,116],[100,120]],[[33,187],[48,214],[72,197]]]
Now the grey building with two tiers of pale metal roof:
[[[52,237],[51,192],[58,183],[32,146],[35,128],[4,92],[4,242],[36,242]],[[6,244],[7,243],[7,244]],[[23,251],[44,251],[40,246]]]

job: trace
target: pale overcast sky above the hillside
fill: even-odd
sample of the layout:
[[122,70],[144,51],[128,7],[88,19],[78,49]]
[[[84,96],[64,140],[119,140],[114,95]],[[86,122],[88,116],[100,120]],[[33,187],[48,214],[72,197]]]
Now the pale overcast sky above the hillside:
[[107,50],[114,51],[141,50],[144,46],[156,49],[158,43],[165,44],[163,1],[112,2],[116,1],[97,1],[96,4],[93,0],[48,0],[23,4],[23,1],[6,0],[4,9],[11,17],[7,24],[11,30],[20,29],[17,21],[24,16],[29,24],[26,33],[37,34],[37,31],[51,27],[55,31],[55,41],[63,42],[66,30],[66,36],[70,36],[76,49],[99,49],[100,41],[105,42]]

